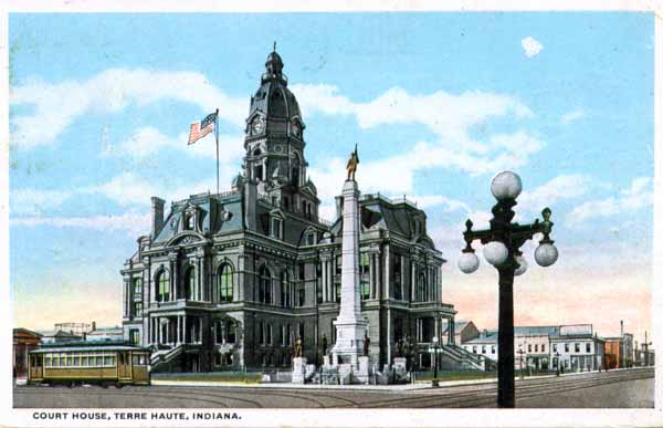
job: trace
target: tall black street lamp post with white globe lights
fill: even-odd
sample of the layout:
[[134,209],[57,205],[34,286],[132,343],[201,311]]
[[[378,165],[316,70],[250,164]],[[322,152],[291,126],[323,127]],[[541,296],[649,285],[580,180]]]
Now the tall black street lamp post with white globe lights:
[[465,222],[463,232],[466,247],[459,258],[459,268],[464,273],[472,273],[478,268],[478,258],[472,248],[472,241],[480,240],[484,247],[484,258],[499,273],[499,321],[497,343],[499,358],[497,361],[497,406],[515,406],[514,380],[514,275],[520,275],[527,270],[520,247],[535,234],[543,233],[539,246],[534,253],[536,262],[549,267],[557,261],[558,251],[550,239],[552,222],[550,209],[541,215],[543,221],[536,219],[532,225],[512,222],[515,212],[516,198],[523,190],[520,177],[511,171],[499,173],[493,178],[491,191],[497,203],[493,207],[491,228],[472,230],[472,221]]

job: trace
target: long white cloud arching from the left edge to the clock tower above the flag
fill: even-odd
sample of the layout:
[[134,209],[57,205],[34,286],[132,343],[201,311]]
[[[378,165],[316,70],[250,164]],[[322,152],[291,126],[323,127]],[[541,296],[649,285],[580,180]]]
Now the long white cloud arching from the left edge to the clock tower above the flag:
[[164,100],[198,105],[203,112],[222,107],[220,117],[244,124],[246,100],[227,95],[201,73],[110,69],[87,81],[51,84],[33,80],[11,87],[11,105],[33,107],[33,113],[12,118],[11,140],[23,148],[48,145],[86,113],[119,112]]

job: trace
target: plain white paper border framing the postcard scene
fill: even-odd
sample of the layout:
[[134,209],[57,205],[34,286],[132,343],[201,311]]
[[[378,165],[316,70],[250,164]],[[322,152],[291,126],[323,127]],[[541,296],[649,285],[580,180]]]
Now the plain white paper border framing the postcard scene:
[[[210,0],[9,0],[0,4],[0,100],[9,97],[8,13],[10,12],[346,12],[346,11],[642,11],[655,15],[655,88],[654,88],[654,243],[652,284],[653,341],[663,343],[663,6],[660,1],[294,1],[277,4],[270,1],[215,2]],[[564,31],[564,29],[560,29]],[[0,103],[0,367],[9,367],[13,309],[10,304],[9,279],[9,103]],[[607,427],[663,426],[663,358],[655,365],[654,409],[238,409],[241,420],[197,421],[196,426],[301,426],[301,427]],[[91,410],[91,409],[85,409]],[[122,409],[129,411],[130,409]],[[136,409],[136,411],[146,409]],[[164,409],[160,409],[164,410]],[[179,410],[179,409],[178,409]],[[209,410],[209,409],[206,409]],[[35,421],[31,409],[12,408],[9,368],[0,370],[0,426],[33,427],[166,427],[193,426],[168,421],[108,422]],[[113,413],[114,409],[103,409]],[[187,409],[192,411],[192,409]]]

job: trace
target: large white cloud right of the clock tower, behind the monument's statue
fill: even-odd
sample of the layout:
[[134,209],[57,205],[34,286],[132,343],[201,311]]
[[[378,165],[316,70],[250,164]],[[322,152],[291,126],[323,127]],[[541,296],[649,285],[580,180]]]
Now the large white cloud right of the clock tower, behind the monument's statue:
[[[473,138],[472,131],[491,118],[534,116],[529,107],[508,95],[486,92],[454,95],[444,91],[419,95],[392,87],[372,101],[355,103],[332,85],[299,84],[292,90],[305,112],[351,115],[362,128],[385,124],[422,125],[434,134],[432,142],[419,142],[408,154],[364,163],[358,174],[362,185],[370,189],[376,181],[380,187],[389,182],[388,190],[392,192],[409,191],[413,171],[421,168],[455,168],[472,175],[515,168],[545,146],[523,128],[488,135],[485,140]],[[322,176],[330,175],[315,170],[316,180]],[[340,173],[334,176],[334,182],[339,182],[336,176],[340,177]]]

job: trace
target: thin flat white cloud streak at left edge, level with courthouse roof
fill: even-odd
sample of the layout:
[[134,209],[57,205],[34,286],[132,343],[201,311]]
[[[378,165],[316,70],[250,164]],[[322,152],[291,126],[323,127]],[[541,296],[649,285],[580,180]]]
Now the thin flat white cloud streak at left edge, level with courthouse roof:
[[131,234],[146,233],[149,230],[150,213],[125,212],[118,216],[91,217],[20,217],[12,218],[12,227],[83,228],[106,232],[127,231]]

